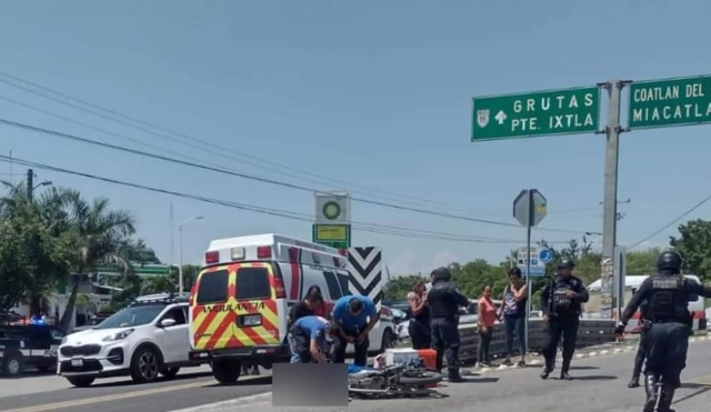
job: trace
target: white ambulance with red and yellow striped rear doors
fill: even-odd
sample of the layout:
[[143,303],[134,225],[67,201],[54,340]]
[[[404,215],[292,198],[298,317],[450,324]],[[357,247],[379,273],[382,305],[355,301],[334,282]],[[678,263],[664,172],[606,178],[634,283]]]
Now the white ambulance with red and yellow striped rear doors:
[[[288,361],[289,310],[318,285],[330,313],[349,294],[347,262],[337,249],[279,234],[211,241],[190,294],[190,359],[211,362],[226,383],[239,378],[241,361],[268,369]],[[397,340],[387,312],[370,333],[371,352]]]

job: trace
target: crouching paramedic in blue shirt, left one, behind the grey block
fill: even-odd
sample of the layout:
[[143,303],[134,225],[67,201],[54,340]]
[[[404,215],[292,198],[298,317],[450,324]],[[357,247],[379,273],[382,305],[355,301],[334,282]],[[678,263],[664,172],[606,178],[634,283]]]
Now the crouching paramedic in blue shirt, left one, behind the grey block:
[[291,363],[323,363],[331,353],[337,330],[326,318],[303,316],[291,326]]

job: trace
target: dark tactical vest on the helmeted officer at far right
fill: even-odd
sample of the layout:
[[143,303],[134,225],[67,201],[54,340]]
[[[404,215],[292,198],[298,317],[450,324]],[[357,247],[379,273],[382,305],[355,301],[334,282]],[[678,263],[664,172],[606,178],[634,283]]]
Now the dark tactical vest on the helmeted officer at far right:
[[652,293],[649,300],[649,319],[657,322],[685,322],[684,279],[680,277],[652,277]]

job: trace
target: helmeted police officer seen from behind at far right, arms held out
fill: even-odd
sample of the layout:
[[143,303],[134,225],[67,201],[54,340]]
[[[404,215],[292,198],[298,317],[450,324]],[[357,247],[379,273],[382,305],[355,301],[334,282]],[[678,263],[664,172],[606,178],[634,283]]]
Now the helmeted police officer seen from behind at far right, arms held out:
[[[663,252],[657,258],[658,273],[649,277],[630,300],[617,333],[624,326],[643,301],[649,302],[648,320],[651,328],[647,333],[647,368],[644,369],[644,389],[647,400],[644,412],[671,412],[674,391],[681,385],[681,371],[687,366],[689,349],[688,308],[694,294],[711,298],[711,288],[680,277],[681,255],[677,252]],[[661,395],[657,390],[661,384]],[[658,404],[659,402],[659,404]]]

